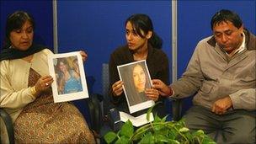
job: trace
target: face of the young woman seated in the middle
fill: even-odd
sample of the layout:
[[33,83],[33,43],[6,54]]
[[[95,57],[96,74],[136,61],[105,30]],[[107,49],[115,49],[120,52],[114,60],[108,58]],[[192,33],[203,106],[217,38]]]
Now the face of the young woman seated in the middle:
[[[144,35],[144,33],[141,33]],[[125,38],[130,50],[136,51],[137,49],[147,45],[147,38],[141,38],[136,34],[136,31],[132,28],[131,22],[128,22],[125,26]]]

